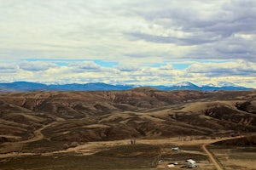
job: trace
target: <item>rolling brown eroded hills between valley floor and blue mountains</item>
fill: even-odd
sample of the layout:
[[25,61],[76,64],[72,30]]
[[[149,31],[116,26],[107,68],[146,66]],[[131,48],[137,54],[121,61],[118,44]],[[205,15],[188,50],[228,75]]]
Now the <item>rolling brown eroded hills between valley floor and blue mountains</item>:
[[3,93],[0,143],[22,141],[30,150],[49,143],[256,132],[255,94],[152,88]]

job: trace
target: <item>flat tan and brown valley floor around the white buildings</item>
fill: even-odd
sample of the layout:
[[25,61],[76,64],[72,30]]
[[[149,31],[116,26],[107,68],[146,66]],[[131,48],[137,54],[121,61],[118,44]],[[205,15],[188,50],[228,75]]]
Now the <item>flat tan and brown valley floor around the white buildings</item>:
[[[193,159],[198,165],[196,169],[253,170],[256,161],[253,150],[256,147],[225,148],[212,145],[220,140],[235,138],[240,137],[183,141],[180,138],[137,139],[136,144],[125,139],[89,142],[67,150],[45,153],[12,152],[0,155],[0,169],[181,169],[186,166],[187,159]],[[211,152],[211,159],[202,148],[206,145]],[[177,146],[181,150],[173,151],[172,147]],[[177,162],[178,165],[167,167],[170,162]]]

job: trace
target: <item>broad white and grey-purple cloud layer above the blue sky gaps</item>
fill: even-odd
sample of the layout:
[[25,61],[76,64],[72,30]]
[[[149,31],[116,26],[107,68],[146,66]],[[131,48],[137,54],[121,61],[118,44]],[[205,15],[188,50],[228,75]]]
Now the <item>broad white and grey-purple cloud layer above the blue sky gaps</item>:
[[[3,59],[118,62],[136,56],[142,61],[142,56],[147,60],[156,56],[159,60],[169,56],[253,60],[255,6],[253,0],[9,0],[0,6],[0,19],[5,23],[0,28],[0,54]],[[241,47],[222,48],[236,42],[234,35],[243,35]]]

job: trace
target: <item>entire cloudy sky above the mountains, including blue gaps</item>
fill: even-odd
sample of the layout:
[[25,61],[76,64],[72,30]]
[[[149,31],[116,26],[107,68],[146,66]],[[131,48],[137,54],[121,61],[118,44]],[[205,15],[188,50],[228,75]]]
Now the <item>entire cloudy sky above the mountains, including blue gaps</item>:
[[0,0],[0,82],[256,88],[256,0]]

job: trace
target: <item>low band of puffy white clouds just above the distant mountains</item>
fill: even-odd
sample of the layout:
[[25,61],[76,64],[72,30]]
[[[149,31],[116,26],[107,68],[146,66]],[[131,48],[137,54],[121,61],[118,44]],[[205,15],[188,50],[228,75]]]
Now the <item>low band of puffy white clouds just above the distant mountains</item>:
[[[128,83],[137,85],[171,85],[177,82],[194,82],[197,85],[218,84],[219,82],[232,82],[237,85],[256,87],[256,66],[253,62],[245,60],[190,61],[189,67],[177,69],[171,63],[158,63],[158,65],[118,65],[102,66],[93,61],[73,61],[69,65],[56,65],[58,60],[26,61],[30,65],[26,70],[20,69],[20,63],[0,65],[3,73],[8,69],[13,72],[1,74],[0,82],[44,82],[44,83]],[[49,66],[38,65],[47,63]],[[33,65],[32,65],[33,64]],[[16,66],[15,66],[16,65]],[[52,66],[51,66],[52,65]],[[36,69],[35,69],[36,68]]]

